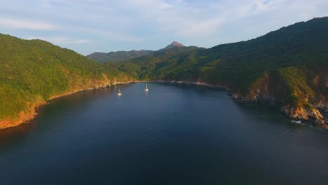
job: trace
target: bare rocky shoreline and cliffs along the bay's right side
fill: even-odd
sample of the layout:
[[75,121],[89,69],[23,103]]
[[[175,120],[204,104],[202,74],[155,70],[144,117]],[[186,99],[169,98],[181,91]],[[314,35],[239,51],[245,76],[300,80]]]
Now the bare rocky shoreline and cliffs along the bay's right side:
[[[281,69],[286,70],[286,69]],[[289,69],[288,69],[289,70]],[[298,69],[294,69],[298,70]],[[280,76],[277,76],[280,75]],[[289,76],[289,78],[283,78],[283,73],[279,73],[279,71],[266,71],[261,78],[252,83],[247,90],[247,93],[242,94],[240,91],[234,92],[231,91],[227,86],[223,86],[220,84],[211,84],[206,81],[202,81],[198,79],[198,81],[191,81],[191,79],[179,79],[177,81],[159,81],[159,82],[168,82],[168,83],[178,83],[178,84],[191,84],[191,85],[204,85],[215,88],[221,88],[223,90],[229,91],[231,93],[231,99],[235,101],[241,102],[250,102],[250,103],[259,103],[259,102],[276,102],[280,104],[281,112],[285,114],[287,117],[292,119],[300,119],[300,120],[312,120],[313,126],[317,128],[328,128],[328,122],[322,116],[320,111],[328,112],[328,102],[324,102],[326,97],[324,95],[316,95],[310,96],[308,92],[302,91],[299,87],[294,87],[296,89],[293,92],[299,92],[299,94],[292,95],[296,98],[296,102],[294,100],[288,100],[288,97],[291,96],[288,89],[292,89],[292,84],[284,81],[288,79],[289,81],[303,81],[302,79],[293,79]],[[324,78],[328,74],[321,74],[321,76],[315,76],[313,81],[317,81],[318,78]],[[327,85],[328,81],[322,81]],[[291,85],[291,86],[288,86]],[[319,83],[315,83],[316,86],[320,85]],[[304,88],[301,86],[301,88]],[[309,87],[308,87],[309,88]],[[311,91],[314,93],[314,91]],[[320,97],[318,100],[316,97]]]

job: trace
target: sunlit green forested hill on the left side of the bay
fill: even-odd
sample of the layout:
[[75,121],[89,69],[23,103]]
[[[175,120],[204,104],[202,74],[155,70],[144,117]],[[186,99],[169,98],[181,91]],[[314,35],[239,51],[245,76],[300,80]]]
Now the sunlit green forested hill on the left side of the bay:
[[0,129],[33,118],[51,97],[132,80],[46,41],[0,34],[0,43]]

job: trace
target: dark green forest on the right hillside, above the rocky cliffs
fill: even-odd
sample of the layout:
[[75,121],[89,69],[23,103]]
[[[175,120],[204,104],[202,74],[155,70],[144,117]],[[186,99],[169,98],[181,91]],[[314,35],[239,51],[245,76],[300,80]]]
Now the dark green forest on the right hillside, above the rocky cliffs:
[[[294,84],[288,81],[302,74],[306,78],[302,85],[305,85],[313,74],[327,71],[327,48],[328,18],[315,18],[250,41],[210,49],[176,48],[106,65],[116,66],[142,80],[204,81],[226,85],[246,95],[252,83],[266,71],[289,72],[289,78],[283,78],[288,85]],[[304,90],[310,92],[310,88]],[[326,89],[321,91],[325,93]]]

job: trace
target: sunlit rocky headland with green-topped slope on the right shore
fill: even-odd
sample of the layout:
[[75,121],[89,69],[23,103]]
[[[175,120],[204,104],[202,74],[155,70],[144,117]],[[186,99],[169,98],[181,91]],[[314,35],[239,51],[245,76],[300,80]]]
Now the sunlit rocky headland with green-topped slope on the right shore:
[[[295,76],[294,73],[299,73]],[[245,102],[278,102],[281,111],[289,118],[313,119],[316,127],[328,128],[328,123],[320,113],[327,111],[327,73],[317,76],[310,75],[306,69],[279,69],[266,71],[248,90],[248,93],[233,93],[234,100]],[[311,84],[311,82],[313,82]]]

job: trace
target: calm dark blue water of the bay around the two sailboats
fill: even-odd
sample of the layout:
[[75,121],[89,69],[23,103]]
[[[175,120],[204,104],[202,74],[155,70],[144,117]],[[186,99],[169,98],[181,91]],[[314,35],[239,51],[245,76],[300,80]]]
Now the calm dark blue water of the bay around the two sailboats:
[[328,130],[221,90],[90,90],[0,131],[0,184],[327,184]]

